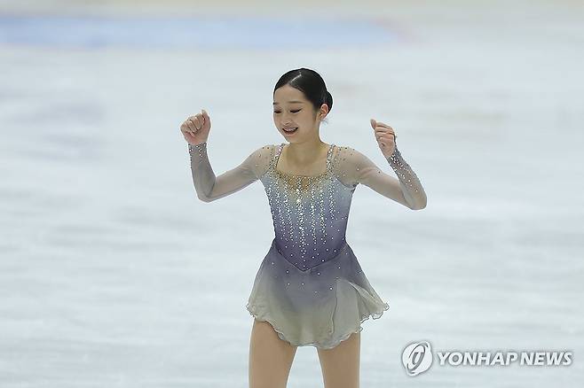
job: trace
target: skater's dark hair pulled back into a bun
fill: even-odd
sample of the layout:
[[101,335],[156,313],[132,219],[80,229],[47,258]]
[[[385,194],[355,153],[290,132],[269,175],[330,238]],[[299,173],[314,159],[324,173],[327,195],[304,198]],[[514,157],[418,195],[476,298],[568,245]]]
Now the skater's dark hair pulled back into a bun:
[[314,70],[305,67],[290,70],[276,82],[273,93],[275,94],[276,89],[284,85],[290,85],[304,93],[306,99],[314,106],[314,117],[316,117],[316,113],[318,113],[322,104],[328,105],[328,112],[333,109],[333,96],[328,92],[327,85],[320,74]]

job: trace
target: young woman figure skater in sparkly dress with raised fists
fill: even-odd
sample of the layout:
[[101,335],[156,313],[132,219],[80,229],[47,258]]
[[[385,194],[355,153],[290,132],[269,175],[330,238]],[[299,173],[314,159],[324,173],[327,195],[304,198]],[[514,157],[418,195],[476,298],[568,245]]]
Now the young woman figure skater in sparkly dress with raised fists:
[[381,317],[389,305],[345,240],[353,192],[362,183],[410,209],[426,206],[422,184],[390,126],[371,120],[398,179],[359,151],[320,140],[320,122],[332,107],[318,73],[300,68],[283,74],[273,92],[273,120],[288,144],[266,144],[219,176],[207,155],[209,114],[201,110],[180,127],[198,198],[223,198],[257,180],[268,196],[275,237],[247,305],[254,316],[251,388],[285,387],[296,347],[304,345],[317,348],[326,388],[359,386],[360,324]]

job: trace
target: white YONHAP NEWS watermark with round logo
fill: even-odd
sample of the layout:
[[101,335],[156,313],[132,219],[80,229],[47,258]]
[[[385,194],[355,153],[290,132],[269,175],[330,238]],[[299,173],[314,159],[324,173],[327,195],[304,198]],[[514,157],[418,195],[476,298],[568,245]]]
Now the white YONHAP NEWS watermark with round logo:
[[417,376],[432,364],[451,367],[567,367],[572,365],[571,350],[433,351],[429,341],[412,342],[401,353],[401,361],[408,376]]

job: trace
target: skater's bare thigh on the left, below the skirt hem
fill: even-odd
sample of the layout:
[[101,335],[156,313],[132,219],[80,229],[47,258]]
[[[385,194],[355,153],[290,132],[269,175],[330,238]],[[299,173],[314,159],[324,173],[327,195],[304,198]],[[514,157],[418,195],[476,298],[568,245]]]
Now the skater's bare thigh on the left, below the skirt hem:
[[285,388],[296,347],[268,322],[254,319],[249,341],[249,388]]

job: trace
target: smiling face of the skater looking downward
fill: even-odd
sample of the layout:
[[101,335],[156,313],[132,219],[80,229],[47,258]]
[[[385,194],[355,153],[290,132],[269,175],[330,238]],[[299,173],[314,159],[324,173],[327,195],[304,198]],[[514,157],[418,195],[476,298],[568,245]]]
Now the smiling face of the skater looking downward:
[[[273,95],[273,122],[280,134],[289,143],[303,142],[311,136],[316,136],[320,120],[328,113],[328,105],[320,106],[320,116],[314,117],[314,109],[304,93],[289,85],[276,89]],[[287,132],[285,129],[297,128]]]

